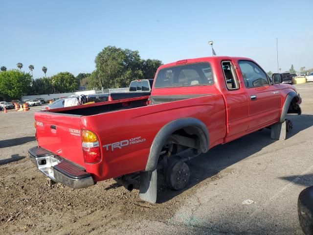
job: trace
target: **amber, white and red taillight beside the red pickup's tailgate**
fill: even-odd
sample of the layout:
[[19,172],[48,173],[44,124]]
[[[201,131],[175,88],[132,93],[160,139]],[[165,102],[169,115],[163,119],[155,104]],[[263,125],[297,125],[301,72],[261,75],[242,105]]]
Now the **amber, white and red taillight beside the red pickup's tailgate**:
[[101,151],[96,134],[92,131],[82,130],[82,142],[85,163],[94,164],[100,162]]

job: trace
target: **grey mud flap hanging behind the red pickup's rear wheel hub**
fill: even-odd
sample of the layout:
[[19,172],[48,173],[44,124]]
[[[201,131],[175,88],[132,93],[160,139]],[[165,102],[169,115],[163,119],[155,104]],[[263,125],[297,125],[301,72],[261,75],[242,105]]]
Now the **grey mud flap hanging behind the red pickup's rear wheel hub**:
[[139,197],[141,200],[156,203],[157,173],[154,171],[140,172]]

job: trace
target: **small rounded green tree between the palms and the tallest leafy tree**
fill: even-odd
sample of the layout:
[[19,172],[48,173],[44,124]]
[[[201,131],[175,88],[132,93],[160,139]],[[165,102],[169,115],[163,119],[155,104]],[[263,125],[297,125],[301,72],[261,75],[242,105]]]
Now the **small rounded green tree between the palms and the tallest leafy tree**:
[[79,80],[70,72],[59,72],[51,77],[55,92],[74,92],[79,88]]

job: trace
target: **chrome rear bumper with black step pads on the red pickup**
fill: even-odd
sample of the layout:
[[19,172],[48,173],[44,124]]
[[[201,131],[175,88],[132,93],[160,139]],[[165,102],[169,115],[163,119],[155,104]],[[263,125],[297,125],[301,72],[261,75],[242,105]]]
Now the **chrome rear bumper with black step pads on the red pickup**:
[[53,181],[70,188],[87,188],[95,184],[92,176],[85,169],[44,148],[30,148],[28,154],[37,168]]

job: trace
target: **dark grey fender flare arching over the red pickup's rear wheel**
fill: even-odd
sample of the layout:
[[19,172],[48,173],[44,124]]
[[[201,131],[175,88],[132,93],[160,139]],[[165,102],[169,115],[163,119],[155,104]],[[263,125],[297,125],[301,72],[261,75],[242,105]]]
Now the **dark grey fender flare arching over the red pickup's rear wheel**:
[[167,139],[173,132],[185,127],[195,127],[197,129],[200,136],[201,152],[205,153],[209,150],[209,132],[206,125],[197,118],[179,118],[167,123],[157,132],[150,147],[145,171],[156,169],[159,154]]

